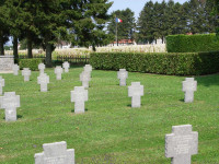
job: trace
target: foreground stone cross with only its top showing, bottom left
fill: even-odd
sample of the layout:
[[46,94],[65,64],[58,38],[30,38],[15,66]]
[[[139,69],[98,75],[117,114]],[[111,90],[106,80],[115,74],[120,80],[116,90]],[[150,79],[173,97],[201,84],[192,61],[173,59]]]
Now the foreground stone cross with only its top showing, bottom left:
[[67,150],[66,141],[45,143],[43,149],[34,155],[35,164],[74,164],[74,149]]

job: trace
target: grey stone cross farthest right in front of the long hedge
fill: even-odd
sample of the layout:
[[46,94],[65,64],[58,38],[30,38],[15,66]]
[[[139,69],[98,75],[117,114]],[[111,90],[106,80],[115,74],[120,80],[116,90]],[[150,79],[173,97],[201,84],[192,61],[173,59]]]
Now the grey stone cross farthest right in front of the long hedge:
[[185,103],[192,103],[194,101],[194,92],[197,91],[197,81],[194,78],[186,78],[183,81],[183,92],[185,92]]

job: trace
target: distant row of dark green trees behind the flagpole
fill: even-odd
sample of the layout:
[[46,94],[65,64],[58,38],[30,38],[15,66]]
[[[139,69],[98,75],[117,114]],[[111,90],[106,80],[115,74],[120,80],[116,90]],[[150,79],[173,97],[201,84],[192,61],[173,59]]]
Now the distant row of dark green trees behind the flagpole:
[[138,20],[130,9],[117,10],[108,24],[108,33],[115,35],[117,16],[118,39],[136,39],[138,43],[151,43],[174,34],[215,33],[219,26],[219,17],[212,14],[212,0],[189,0],[183,4],[173,0],[165,2],[149,1],[145,4]]

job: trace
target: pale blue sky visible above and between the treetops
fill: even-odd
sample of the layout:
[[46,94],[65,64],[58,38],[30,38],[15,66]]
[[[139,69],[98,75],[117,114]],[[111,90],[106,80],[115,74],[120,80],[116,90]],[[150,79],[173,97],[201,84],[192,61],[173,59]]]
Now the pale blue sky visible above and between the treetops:
[[[110,2],[114,2],[108,13],[112,13],[116,10],[125,10],[129,8],[135,13],[136,20],[139,16],[140,11],[143,9],[145,4],[150,0],[108,0]],[[162,2],[162,0],[152,0],[153,2]],[[168,2],[168,0],[165,0]],[[188,0],[173,0],[174,2],[184,3]]]

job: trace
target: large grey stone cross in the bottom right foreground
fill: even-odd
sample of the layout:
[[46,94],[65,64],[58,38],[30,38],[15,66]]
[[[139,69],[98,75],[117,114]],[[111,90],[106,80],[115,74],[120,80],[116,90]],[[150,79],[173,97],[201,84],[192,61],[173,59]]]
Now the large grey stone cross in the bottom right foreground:
[[173,126],[172,133],[165,134],[165,156],[172,164],[191,164],[191,156],[198,153],[198,132],[192,125]]

